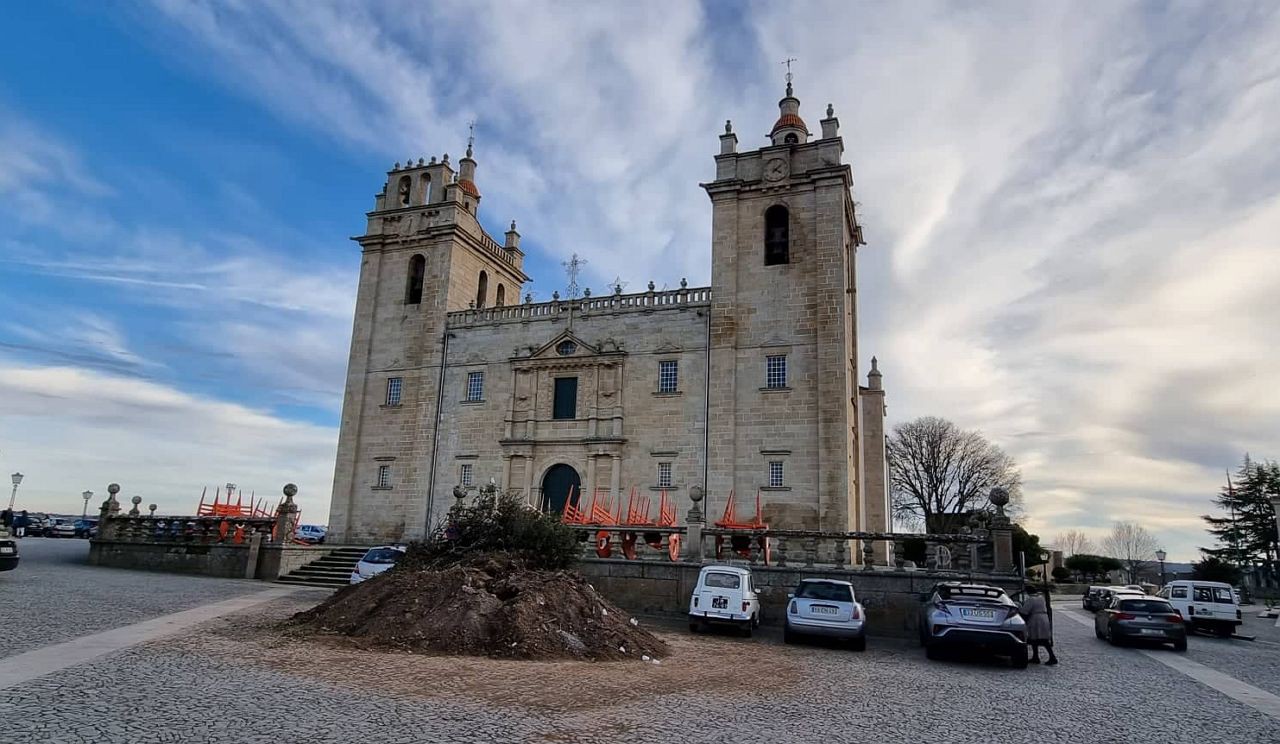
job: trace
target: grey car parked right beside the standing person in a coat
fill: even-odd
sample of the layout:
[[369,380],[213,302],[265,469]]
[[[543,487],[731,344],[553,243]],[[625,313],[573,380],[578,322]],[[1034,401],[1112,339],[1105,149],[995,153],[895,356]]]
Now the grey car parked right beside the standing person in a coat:
[[925,656],[945,649],[986,651],[1027,668],[1027,622],[1000,586],[942,581],[922,595],[919,630]]

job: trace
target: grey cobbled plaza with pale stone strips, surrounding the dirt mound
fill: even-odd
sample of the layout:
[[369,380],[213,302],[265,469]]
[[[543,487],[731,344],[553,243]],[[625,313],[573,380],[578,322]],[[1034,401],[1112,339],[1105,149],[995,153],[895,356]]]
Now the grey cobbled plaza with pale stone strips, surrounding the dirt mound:
[[0,574],[0,741],[1280,741],[1280,629],[1257,619],[1256,642],[1176,654],[1112,648],[1064,603],[1062,665],[1025,671],[677,626],[662,665],[460,659],[282,634],[314,590],[93,569],[83,540],[22,548]]

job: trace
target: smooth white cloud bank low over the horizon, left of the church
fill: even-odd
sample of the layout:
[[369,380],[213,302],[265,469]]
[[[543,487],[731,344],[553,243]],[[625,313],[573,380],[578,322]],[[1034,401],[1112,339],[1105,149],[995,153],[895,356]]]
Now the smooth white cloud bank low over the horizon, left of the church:
[[230,480],[274,503],[293,481],[303,519],[320,520],[337,430],[133,378],[0,362],[0,443],[26,475],[18,508],[74,514],[82,490],[96,505],[118,481],[122,497],[191,514],[201,484]]

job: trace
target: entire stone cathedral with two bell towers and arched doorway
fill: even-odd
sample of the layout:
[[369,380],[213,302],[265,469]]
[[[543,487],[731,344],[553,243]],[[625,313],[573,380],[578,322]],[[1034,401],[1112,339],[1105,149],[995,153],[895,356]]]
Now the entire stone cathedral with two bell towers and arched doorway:
[[709,521],[736,493],[774,529],[887,531],[840,120],[810,132],[790,79],[778,109],[764,147],[719,136],[710,287],[532,302],[516,224],[499,242],[477,219],[471,146],[457,170],[397,164],[355,238],[330,540],[420,538],[489,483],[550,512],[635,489],[684,515],[696,487]]

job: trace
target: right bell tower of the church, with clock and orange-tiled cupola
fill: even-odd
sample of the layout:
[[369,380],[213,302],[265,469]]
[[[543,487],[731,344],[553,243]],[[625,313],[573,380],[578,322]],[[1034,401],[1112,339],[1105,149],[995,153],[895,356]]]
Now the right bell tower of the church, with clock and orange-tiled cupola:
[[760,493],[773,528],[856,530],[860,497],[852,170],[831,105],[812,140],[788,65],[768,145],[726,122],[712,200],[709,519]]

